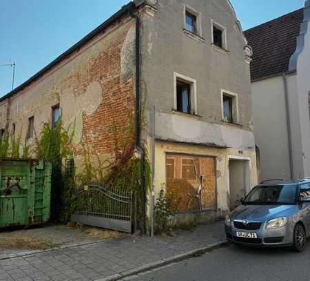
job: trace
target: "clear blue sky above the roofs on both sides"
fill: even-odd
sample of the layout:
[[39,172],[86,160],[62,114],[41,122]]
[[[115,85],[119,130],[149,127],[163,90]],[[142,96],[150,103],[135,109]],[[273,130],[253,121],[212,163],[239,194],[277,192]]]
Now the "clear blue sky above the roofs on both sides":
[[[23,83],[129,0],[0,0],[0,64]],[[302,8],[304,0],[231,0],[244,30]],[[0,97],[12,69],[0,66]]]

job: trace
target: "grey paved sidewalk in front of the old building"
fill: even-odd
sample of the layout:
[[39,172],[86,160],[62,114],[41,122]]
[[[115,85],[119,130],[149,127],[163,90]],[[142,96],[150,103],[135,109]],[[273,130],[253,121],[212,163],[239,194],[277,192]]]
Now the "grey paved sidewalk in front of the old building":
[[175,237],[126,236],[0,260],[0,280],[104,280],[223,240],[223,222],[180,231]]

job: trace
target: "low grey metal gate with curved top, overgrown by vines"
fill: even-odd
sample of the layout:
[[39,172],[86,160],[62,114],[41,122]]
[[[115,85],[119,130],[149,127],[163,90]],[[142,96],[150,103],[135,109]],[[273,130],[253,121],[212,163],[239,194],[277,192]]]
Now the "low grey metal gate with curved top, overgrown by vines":
[[83,184],[76,190],[76,211],[72,222],[104,229],[132,232],[132,192],[106,188],[103,184]]

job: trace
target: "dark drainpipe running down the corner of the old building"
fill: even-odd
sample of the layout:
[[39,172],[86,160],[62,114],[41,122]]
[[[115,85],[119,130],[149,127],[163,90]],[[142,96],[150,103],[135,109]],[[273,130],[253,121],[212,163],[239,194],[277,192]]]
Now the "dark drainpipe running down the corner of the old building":
[[140,73],[141,73],[141,59],[140,59],[140,18],[137,14],[137,9],[134,3],[130,6],[130,15],[136,20],[136,116],[135,116],[135,141],[136,150],[140,155],[140,183],[141,183],[141,222],[140,229],[143,234],[145,234],[145,177],[144,177],[144,162],[145,153],[141,146],[141,85],[140,85]]

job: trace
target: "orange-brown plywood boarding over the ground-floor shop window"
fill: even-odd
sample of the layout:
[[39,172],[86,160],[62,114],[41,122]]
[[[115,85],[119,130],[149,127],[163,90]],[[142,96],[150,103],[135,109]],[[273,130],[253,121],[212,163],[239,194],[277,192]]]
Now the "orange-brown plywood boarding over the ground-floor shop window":
[[167,155],[167,195],[176,211],[216,210],[216,159]]

